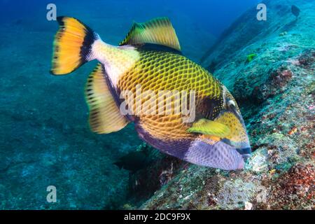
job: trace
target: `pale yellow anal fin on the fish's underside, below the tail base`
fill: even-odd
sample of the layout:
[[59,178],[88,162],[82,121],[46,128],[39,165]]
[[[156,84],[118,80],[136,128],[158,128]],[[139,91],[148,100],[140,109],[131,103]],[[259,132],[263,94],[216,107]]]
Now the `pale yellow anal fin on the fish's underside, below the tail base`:
[[113,99],[104,73],[104,66],[97,64],[85,86],[85,99],[90,109],[90,127],[98,134],[118,132],[128,123]]

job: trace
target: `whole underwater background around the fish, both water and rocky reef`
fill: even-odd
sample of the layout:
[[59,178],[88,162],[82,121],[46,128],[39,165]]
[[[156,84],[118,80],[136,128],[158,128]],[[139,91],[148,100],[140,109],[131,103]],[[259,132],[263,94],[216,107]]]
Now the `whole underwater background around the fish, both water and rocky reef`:
[[[256,18],[260,2],[0,0],[0,209],[314,209],[315,1],[263,1],[266,21]],[[143,144],[132,125],[92,133],[83,89],[97,62],[50,75],[48,3],[113,45],[133,21],[169,17],[183,54],[241,106],[254,151],[246,169],[187,166]],[[114,165],[139,148],[153,152],[146,167]]]

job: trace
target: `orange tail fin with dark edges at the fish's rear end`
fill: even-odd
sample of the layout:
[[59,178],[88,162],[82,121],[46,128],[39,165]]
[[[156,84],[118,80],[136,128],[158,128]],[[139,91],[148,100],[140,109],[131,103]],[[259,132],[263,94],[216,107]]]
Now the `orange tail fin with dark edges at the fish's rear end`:
[[91,48],[97,34],[75,18],[58,17],[57,22],[50,72],[64,75],[93,59]]

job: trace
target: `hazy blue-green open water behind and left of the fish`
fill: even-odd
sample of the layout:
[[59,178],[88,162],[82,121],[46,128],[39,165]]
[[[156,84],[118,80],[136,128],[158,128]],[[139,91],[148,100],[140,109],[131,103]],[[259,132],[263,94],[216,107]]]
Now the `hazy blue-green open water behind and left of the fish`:
[[[258,1],[0,1],[0,209],[118,209],[127,202],[129,172],[115,162],[142,142],[132,125],[97,135],[87,125],[83,87],[96,62],[74,74],[49,73],[57,15],[75,17],[107,43],[132,22],[167,16],[183,53],[199,61],[222,32]],[[57,202],[46,200],[57,188]]]

